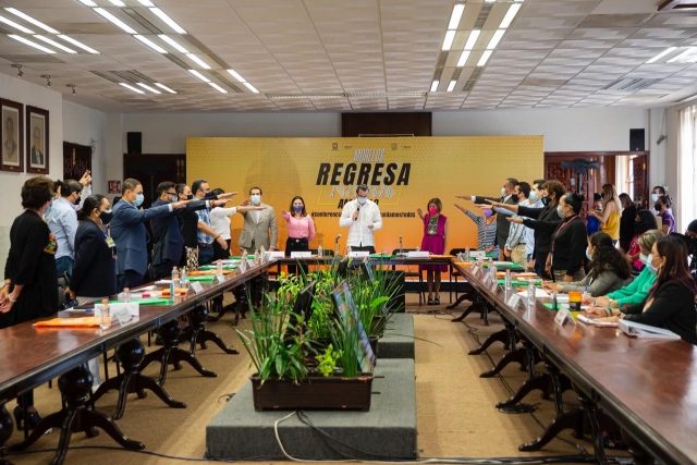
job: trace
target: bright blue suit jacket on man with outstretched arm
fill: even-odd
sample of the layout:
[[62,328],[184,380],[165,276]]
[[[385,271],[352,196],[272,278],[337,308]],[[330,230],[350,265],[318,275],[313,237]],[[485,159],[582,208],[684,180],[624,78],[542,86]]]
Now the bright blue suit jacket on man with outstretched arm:
[[147,231],[144,221],[157,220],[176,215],[170,205],[138,210],[133,204],[121,200],[113,207],[113,218],[109,222],[111,236],[117,243],[119,274],[126,270],[145,274],[148,269]]

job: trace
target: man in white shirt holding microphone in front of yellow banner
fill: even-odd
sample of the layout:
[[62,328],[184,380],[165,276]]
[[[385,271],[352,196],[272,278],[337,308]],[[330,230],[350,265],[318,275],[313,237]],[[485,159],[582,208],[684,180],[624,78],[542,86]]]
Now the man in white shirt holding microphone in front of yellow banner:
[[382,228],[382,217],[378,204],[368,200],[368,186],[356,187],[356,199],[344,204],[339,219],[341,228],[348,228],[346,246],[351,252],[368,252],[375,254],[374,232]]

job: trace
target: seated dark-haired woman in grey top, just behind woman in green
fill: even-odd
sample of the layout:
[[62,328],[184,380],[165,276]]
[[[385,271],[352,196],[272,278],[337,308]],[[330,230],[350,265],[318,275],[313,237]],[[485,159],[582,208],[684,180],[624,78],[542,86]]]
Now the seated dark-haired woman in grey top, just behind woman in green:
[[612,245],[610,234],[598,231],[588,237],[586,258],[590,260],[588,274],[580,281],[570,283],[545,283],[543,289],[568,293],[588,290],[591,296],[606,295],[626,284],[632,268],[620,250]]

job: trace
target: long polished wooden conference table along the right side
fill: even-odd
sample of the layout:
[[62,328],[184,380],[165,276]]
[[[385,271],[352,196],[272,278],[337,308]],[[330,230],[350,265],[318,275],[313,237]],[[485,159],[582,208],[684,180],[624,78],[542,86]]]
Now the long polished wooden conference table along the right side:
[[[523,304],[512,308],[506,304],[511,295],[523,290],[486,282],[486,269],[475,273],[466,264],[453,266],[524,342],[571,379],[590,414],[607,415],[622,427],[637,463],[652,463],[648,452],[663,463],[697,464],[696,346],[682,340],[629,338],[617,328],[580,321],[562,326],[554,320],[557,313],[542,305],[549,298],[538,298],[528,308],[523,297]],[[599,431],[594,436],[598,461],[607,463]],[[529,444],[521,450],[536,450]]]

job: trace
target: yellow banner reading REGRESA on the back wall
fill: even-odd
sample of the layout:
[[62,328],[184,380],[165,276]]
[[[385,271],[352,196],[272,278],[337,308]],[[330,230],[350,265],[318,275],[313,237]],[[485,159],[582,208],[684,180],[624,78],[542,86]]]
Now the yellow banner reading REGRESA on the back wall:
[[[375,233],[376,249],[392,252],[403,236],[405,248],[421,244],[424,223],[417,208],[428,210],[428,200],[443,203],[449,218],[448,249],[476,247],[477,229],[454,207],[460,204],[480,215],[456,195],[499,197],[506,178],[527,181],[542,178],[542,136],[496,137],[351,137],[351,138],[257,138],[188,137],[186,173],[188,183],[206,179],[211,188],[240,192],[229,204],[239,205],[253,186],[261,187],[262,201],[277,212],[279,241],[288,237],[281,210],[291,210],[291,199],[301,195],[315,221],[317,236],[311,248],[334,247],[347,228],[339,227],[343,204],[355,198],[355,187],[367,184],[369,198],[378,203],[383,228]],[[243,218],[232,218],[232,252]],[[448,250],[447,250],[448,252]]]

